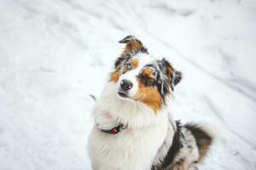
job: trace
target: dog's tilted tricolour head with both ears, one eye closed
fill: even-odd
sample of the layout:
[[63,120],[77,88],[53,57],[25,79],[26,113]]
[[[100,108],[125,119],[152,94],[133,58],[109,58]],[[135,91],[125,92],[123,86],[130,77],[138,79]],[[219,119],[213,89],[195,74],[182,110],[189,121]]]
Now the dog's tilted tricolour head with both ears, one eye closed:
[[160,110],[166,96],[182,79],[166,59],[154,59],[135,37],[125,37],[125,50],[115,62],[111,82],[116,82],[120,99],[143,102],[154,110]]

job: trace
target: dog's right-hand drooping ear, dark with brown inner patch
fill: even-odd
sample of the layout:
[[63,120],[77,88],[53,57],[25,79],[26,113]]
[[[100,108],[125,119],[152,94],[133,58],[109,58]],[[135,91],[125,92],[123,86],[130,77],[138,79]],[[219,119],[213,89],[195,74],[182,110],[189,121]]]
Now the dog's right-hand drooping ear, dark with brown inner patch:
[[166,77],[168,77],[168,80],[170,82],[170,86],[172,91],[174,90],[174,87],[180,82],[183,78],[183,73],[181,71],[176,71],[172,64],[166,60],[165,58],[161,60],[162,65],[165,67],[165,73]]

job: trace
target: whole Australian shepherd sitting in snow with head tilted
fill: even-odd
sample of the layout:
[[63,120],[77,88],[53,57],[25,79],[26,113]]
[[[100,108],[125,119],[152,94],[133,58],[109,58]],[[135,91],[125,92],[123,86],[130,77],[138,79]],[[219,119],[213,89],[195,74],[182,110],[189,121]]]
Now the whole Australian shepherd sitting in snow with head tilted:
[[125,49],[96,101],[88,150],[94,170],[192,170],[214,135],[207,126],[181,125],[168,111],[182,79],[166,59],[155,59],[136,37]]

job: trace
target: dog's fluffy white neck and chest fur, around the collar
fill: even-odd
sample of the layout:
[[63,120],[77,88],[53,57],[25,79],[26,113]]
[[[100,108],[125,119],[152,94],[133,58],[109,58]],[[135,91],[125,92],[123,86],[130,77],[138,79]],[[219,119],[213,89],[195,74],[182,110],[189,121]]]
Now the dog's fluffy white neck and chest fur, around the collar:
[[[150,169],[166,138],[166,109],[155,114],[147,105],[119,99],[115,84],[108,82],[94,114],[98,126],[93,127],[88,141],[94,170]],[[99,127],[111,127],[120,122],[128,126],[120,133],[108,134],[99,130]]]

